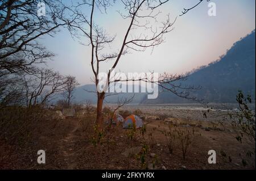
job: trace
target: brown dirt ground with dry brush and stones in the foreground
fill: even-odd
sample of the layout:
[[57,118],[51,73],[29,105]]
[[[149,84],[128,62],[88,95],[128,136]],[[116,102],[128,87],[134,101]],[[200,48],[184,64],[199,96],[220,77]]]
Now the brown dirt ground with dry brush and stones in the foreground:
[[[0,140],[0,169],[255,169],[255,155],[243,156],[251,146],[238,142],[232,129],[209,121],[147,116],[143,134],[142,129],[132,132],[122,124],[111,125],[97,145],[92,141],[92,118],[84,112],[46,119],[36,125],[31,141],[9,144]],[[170,154],[163,134],[174,123],[176,128],[196,132],[185,160],[179,143]],[[145,145],[147,151],[143,151]],[[137,153],[125,155],[135,148]],[[37,162],[38,150],[46,151],[46,164]],[[216,151],[216,164],[208,163],[209,150]],[[245,166],[242,159],[246,159]]]

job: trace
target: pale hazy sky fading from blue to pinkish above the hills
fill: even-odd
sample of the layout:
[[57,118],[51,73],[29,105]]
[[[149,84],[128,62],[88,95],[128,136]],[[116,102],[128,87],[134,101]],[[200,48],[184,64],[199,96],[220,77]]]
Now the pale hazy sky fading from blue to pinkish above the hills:
[[[232,47],[233,43],[255,29],[255,0],[212,0],[216,3],[217,15],[208,16],[208,2],[179,16],[183,8],[195,5],[198,0],[172,0],[160,8],[162,15],[170,13],[176,16],[175,29],[165,35],[165,43],[159,45],[151,54],[132,52],[123,56],[117,70],[127,72],[185,73],[201,65],[217,60],[219,56]],[[127,30],[127,23],[116,10],[116,5],[108,10],[108,15],[97,13],[95,23],[103,26],[110,35],[117,35],[114,48],[120,47],[122,37]],[[55,37],[44,37],[42,44],[53,53],[54,61],[48,67],[61,74],[76,76],[81,85],[92,83],[90,67],[90,47],[80,45],[73,40],[67,30],[61,30]],[[108,70],[113,65],[102,65]]]

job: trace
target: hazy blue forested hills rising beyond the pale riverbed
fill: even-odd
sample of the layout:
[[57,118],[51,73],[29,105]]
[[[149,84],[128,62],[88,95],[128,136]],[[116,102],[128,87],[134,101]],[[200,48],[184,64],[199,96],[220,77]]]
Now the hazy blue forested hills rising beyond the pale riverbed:
[[[184,85],[201,86],[196,96],[207,102],[233,103],[236,102],[238,90],[250,94],[255,99],[255,30],[233,44],[220,60],[189,73]],[[90,100],[96,103],[97,97],[93,92],[94,85],[77,87],[75,102],[83,103]],[[133,93],[123,93],[106,98],[108,103],[116,103],[119,99],[130,98]],[[162,103],[191,103],[191,100],[179,98],[172,92],[162,92],[157,99],[147,99],[146,93],[135,93],[134,104],[162,104]]]

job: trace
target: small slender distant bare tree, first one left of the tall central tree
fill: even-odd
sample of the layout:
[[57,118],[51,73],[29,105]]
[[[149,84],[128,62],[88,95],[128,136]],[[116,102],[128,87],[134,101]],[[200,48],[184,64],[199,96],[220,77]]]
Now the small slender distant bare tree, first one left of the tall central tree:
[[76,88],[76,86],[79,85],[79,83],[76,81],[76,77],[72,77],[71,75],[68,75],[65,78],[65,91],[63,92],[63,96],[65,101],[68,103],[68,107],[70,106],[70,103],[73,99],[73,93]]

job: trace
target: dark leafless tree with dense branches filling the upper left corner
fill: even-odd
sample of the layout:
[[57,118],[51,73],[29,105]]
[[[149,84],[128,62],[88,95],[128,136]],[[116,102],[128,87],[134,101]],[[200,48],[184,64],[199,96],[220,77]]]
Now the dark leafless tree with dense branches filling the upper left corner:
[[[42,3],[45,15],[38,14]],[[0,1],[0,77],[20,71],[34,73],[32,65],[54,56],[38,39],[53,36],[66,24],[59,18],[65,11],[60,5],[55,0]]]

